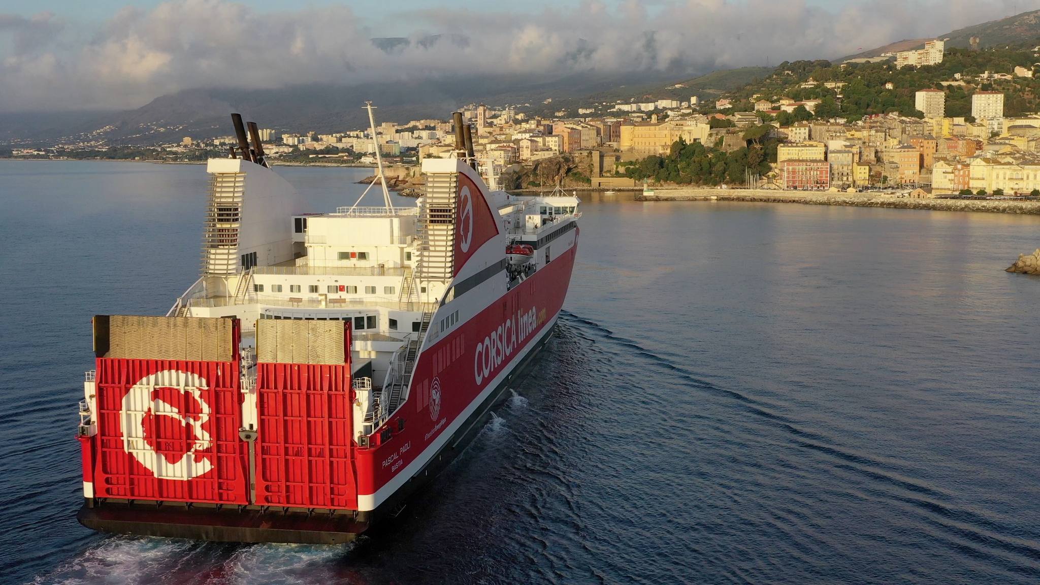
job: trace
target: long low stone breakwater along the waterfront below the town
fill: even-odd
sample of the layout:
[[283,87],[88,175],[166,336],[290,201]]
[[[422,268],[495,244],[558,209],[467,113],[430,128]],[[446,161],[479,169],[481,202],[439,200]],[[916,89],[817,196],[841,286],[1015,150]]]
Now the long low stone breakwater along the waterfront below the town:
[[636,201],[747,201],[801,203],[803,205],[850,205],[895,209],[935,209],[941,211],[985,211],[1040,215],[1038,201],[1000,201],[986,199],[907,199],[876,197],[870,194],[799,193],[755,189],[668,189],[652,195],[639,194]]

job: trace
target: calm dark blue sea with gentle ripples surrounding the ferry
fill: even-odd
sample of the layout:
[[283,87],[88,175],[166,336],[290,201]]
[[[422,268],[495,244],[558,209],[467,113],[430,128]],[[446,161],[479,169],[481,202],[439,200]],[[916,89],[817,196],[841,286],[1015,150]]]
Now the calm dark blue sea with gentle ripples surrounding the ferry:
[[[367,170],[280,172],[315,210]],[[353,546],[81,528],[98,312],[199,270],[198,166],[0,161],[0,583],[1040,582],[1040,217],[584,195],[556,335]]]

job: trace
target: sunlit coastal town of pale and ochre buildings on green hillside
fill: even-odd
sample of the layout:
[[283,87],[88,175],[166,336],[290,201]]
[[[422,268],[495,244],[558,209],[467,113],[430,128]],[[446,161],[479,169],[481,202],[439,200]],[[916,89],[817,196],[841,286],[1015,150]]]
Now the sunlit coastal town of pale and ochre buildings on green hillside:
[[[932,40],[842,62],[784,62],[713,99],[704,92],[681,99],[642,95],[553,109],[549,98],[461,111],[484,173],[502,188],[696,185],[1036,198],[1040,113],[1025,111],[1035,102],[1019,97],[1036,95],[1040,62],[1034,61],[1040,47],[946,49]],[[683,83],[667,90],[674,96]],[[371,164],[379,148],[398,188],[416,186],[410,181],[423,158],[456,150],[452,124],[443,120],[383,121],[375,139],[367,129],[271,128],[261,128],[260,138],[275,163]],[[147,159],[187,161],[234,144],[232,135],[182,136],[138,148]],[[106,148],[112,150],[81,139],[12,148],[9,156],[83,157]]]

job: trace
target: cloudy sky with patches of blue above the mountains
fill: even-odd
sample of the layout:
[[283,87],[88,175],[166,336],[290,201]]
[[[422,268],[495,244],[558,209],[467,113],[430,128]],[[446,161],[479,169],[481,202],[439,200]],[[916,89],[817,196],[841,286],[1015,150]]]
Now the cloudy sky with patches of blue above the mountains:
[[[0,111],[468,72],[707,72],[834,58],[1038,8],[1040,0],[0,0]],[[431,34],[441,36],[418,42]],[[370,42],[381,36],[413,42],[386,52]]]

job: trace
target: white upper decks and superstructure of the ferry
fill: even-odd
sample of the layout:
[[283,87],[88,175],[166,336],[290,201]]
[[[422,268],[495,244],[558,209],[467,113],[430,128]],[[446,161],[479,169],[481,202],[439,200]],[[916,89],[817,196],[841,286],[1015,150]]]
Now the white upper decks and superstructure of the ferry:
[[[448,180],[456,167],[454,158],[424,160],[427,194],[436,197],[439,177]],[[246,344],[256,320],[352,320],[354,357],[370,359],[373,380],[382,382],[393,354],[420,331],[424,313],[445,301],[452,271],[438,262],[454,234],[433,232],[453,229],[453,219],[420,226],[427,197],[415,207],[304,213],[295,190],[269,169],[229,158],[211,159],[207,172],[211,214],[203,274],[168,314],[236,316]],[[560,192],[515,197],[499,190],[490,199],[508,241],[520,244],[537,243],[573,220],[578,205]],[[524,270],[537,270],[552,255],[551,246],[539,248]]]

